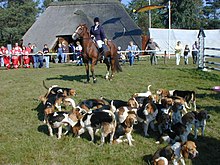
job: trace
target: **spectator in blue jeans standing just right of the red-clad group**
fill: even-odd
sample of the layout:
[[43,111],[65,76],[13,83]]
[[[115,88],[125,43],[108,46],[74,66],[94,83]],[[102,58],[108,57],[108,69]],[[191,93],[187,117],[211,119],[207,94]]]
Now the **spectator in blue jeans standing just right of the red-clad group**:
[[[34,68],[42,68],[43,67],[43,52],[40,51],[36,44],[32,45],[33,50],[33,60],[34,60]],[[38,66],[39,63],[39,66]]]

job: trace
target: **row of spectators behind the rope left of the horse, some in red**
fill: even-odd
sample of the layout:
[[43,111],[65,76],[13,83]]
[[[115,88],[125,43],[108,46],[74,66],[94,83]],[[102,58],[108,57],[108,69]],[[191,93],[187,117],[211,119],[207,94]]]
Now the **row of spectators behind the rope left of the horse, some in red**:
[[[49,68],[52,60],[50,50],[47,44],[44,44],[43,49],[40,50],[35,43],[28,43],[27,46],[15,43],[12,48],[5,46],[0,47],[0,66],[6,69],[18,68]],[[76,47],[71,43],[70,45],[58,45],[55,61],[60,63],[67,62],[67,56],[71,55],[70,61],[76,62],[77,65],[83,64],[82,60],[82,46],[79,41],[76,42]],[[44,64],[45,62],[45,64]]]

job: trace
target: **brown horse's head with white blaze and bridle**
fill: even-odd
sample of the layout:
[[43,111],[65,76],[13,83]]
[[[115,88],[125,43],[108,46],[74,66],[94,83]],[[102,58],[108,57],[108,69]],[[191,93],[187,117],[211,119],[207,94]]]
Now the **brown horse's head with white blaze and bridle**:
[[77,26],[75,32],[72,35],[72,38],[74,40],[83,37],[87,37],[87,38],[90,37],[86,24],[80,24],[79,26]]

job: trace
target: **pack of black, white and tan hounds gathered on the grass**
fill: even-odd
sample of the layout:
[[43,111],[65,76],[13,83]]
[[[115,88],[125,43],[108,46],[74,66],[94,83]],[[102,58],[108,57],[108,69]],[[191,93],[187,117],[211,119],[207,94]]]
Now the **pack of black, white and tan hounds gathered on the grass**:
[[[194,130],[196,140],[201,128],[204,136],[209,115],[205,110],[196,110],[194,91],[158,89],[152,94],[149,85],[146,92],[134,93],[128,101],[100,97],[76,104],[75,89],[57,85],[47,87],[44,81],[43,85],[47,92],[40,100],[50,136],[54,128],[58,130],[58,139],[68,132],[80,138],[87,131],[91,142],[96,143],[95,135],[99,132],[100,145],[105,144],[108,137],[110,144],[127,142],[133,146],[134,125],[140,125],[144,137],[149,136],[151,129],[159,135],[155,143],[168,143],[154,153],[152,164],[185,164],[184,159],[198,155],[196,144],[188,140],[188,135]],[[71,106],[72,110],[63,111],[61,105]]]

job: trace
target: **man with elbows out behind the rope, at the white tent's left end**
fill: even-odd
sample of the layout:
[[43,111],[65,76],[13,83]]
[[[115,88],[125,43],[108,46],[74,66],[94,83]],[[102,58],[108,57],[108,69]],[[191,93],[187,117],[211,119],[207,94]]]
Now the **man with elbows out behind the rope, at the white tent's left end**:
[[158,44],[153,41],[153,38],[150,38],[145,50],[149,51],[151,65],[157,64],[156,48],[160,50],[160,47],[158,46]]

